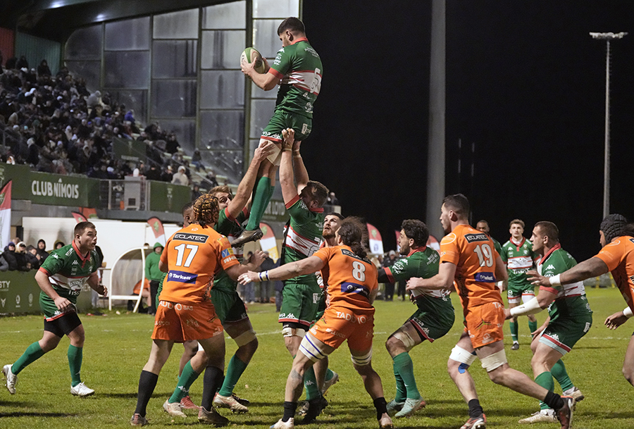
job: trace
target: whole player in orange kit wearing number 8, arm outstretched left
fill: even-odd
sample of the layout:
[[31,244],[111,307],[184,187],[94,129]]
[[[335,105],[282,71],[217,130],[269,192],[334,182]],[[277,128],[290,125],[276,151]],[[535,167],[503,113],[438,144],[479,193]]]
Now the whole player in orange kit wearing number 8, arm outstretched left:
[[354,369],[373,399],[381,428],[392,428],[387,415],[381,379],[371,365],[374,307],[378,292],[376,268],[367,258],[361,240],[363,224],[354,218],[342,220],[335,233],[337,246],[323,247],[306,259],[287,263],[271,271],[240,275],[238,281],[284,280],[321,270],[328,285],[328,306],[321,318],[306,332],[286,381],[284,416],[271,428],[294,428],[297,399],[302,394],[304,373],[313,364],[335,351],[344,340],[352,355]]

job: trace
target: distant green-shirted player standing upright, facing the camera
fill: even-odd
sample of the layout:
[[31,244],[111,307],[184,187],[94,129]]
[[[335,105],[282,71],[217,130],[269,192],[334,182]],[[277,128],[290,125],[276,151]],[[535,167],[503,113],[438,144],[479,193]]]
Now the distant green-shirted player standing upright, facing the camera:
[[[535,298],[535,286],[528,281],[526,271],[534,266],[537,259],[533,254],[533,244],[530,244],[524,233],[524,222],[521,219],[511,220],[509,224],[511,238],[502,246],[499,256],[506,263],[509,271],[508,298],[509,308],[516,307],[520,301],[527,302]],[[519,349],[517,317],[511,318],[509,323],[513,345],[511,350]],[[528,315],[528,328],[530,332],[537,329],[537,319],[532,314]]]

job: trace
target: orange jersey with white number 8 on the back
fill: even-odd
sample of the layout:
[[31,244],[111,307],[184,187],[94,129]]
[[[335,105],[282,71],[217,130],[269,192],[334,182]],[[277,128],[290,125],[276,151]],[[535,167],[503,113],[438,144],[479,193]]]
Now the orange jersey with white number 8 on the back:
[[328,307],[374,311],[370,297],[378,287],[375,266],[356,256],[348,246],[323,247],[313,254],[325,266],[323,282],[328,285]]

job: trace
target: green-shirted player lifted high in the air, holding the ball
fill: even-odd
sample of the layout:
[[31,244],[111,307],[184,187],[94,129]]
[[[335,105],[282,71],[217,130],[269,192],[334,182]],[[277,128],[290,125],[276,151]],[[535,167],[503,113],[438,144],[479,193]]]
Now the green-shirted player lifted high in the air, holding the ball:
[[280,87],[275,113],[260,137],[260,142],[274,142],[277,150],[269,156],[269,161],[262,163],[249,223],[235,241],[236,246],[262,237],[259,223],[271,201],[271,181],[275,179],[280,164],[282,130],[292,128],[294,138],[300,142],[309,137],[313,127],[313,105],[321,91],[323,66],[321,58],[306,39],[304,23],[298,18],[286,18],[278,27],[278,36],[282,49],[275,56],[272,66],[263,58],[266,73],[259,74],[254,70],[255,61],[242,64],[242,73],[259,88],[271,91],[278,84]]

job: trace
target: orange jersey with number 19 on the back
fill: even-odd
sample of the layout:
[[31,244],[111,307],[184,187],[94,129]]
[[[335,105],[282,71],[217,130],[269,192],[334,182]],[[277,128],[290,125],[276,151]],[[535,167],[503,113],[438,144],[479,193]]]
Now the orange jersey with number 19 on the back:
[[495,285],[497,251],[484,232],[470,225],[458,225],[440,241],[440,264],[456,266],[454,286],[463,309],[489,302],[502,304]]

